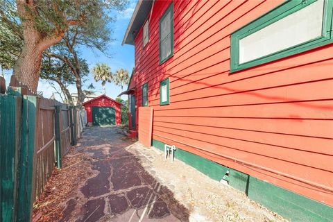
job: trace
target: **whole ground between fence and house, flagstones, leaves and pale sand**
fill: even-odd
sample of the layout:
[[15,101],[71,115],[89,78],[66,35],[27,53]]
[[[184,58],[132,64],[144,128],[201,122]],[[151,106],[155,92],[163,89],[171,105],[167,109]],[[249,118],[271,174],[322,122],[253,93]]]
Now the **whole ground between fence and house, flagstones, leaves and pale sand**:
[[34,221],[285,221],[240,191],[128,139],[86,128],[34,206]]

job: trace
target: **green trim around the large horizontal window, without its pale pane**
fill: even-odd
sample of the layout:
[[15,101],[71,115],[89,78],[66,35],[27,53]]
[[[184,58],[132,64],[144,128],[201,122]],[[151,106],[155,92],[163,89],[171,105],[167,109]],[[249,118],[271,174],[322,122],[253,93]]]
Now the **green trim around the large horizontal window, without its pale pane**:
[[333,42],[332,38],[332,11],[333,11],[333,1],[325,0],[324,10],[323,10],[323,29],[322,35],[316,37],[307,42],[297,44],[296,46],[291,46],[287,49],[271,53],[267,56],[262,56],[248,62],[239,64],[239,40],[244,37],[251,35],[268,25],[277,22],[288,15],[291,15],[298,10],[309,6],[317,0],[287,0],[280,6],[273,8],[273,10],[267,12],[266,14],[258,17],[253,22],[250,22],[246,26],[239,28],[237,31],[231,34],[231,46],[230,46],[230,73],[239,71],[242,69],[247,69],[250,67],[255,67],[257,65],[262,65],[266,62],[271,62],[273,60],[278,60],[287,56],[292,56],[296,53],[302,53],[308,51],[309,49],[314,49],[318,46],[323,46]]

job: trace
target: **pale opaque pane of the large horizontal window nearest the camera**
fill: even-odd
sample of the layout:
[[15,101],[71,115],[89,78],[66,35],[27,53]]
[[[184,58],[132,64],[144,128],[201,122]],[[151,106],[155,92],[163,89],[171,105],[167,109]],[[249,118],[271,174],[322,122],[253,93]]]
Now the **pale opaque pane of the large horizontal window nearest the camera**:
[[318,0],[239,40],[239,64],[322,35],[324,1]]

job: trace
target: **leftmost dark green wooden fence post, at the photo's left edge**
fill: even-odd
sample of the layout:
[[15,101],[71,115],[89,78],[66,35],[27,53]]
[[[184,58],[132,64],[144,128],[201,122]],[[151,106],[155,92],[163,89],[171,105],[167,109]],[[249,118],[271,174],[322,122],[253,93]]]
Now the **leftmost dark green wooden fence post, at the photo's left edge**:
[[16,221],[22,99],[0,95],[0,221]]

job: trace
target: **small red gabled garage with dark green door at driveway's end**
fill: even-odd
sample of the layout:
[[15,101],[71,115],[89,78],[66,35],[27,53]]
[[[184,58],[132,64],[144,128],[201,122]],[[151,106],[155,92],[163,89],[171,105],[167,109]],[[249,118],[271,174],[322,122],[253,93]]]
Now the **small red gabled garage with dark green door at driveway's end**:
[[87,111],[87,122],[94,126],[121,124],[121,103],[101,95],[83,103]]

